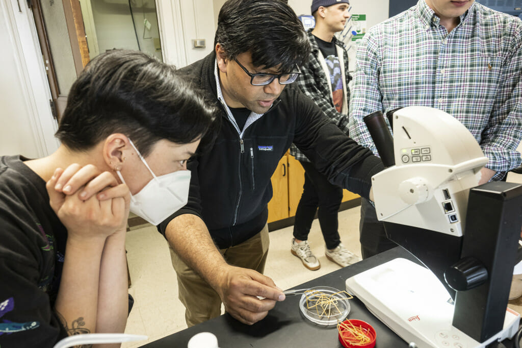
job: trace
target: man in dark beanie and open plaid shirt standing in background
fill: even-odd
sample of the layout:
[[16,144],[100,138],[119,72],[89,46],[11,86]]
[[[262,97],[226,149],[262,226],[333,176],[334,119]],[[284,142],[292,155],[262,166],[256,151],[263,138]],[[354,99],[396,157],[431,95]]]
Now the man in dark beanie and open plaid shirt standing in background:
[[[334,34],[345,27],[350,17],[349,2],[342,0],[314,0],[311,13],[315,28],[308,31],[311,45],[309,62],[301,66],[297,81],[299,88],[324,111],[337,126],[348,133],[348,53]],[[303,194],[297,211],[291,249],[309,270],[321,268],[307,241],[315,212],[326,243],[326,258],[341,266],[359,261],[359,257],[343,247],[338,231],[337,213],[342,200],[342,188],[331,184],[300,150],[292,144],[290,153],[305,170]],[[317,210],[317,207],[319,210]]]

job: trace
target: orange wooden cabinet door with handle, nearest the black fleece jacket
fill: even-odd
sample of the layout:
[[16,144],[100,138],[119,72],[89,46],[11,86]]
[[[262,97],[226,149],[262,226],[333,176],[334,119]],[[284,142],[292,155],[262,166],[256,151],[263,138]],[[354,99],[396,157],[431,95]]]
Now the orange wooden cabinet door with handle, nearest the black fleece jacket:
[[268,202],[268,223],[289,217],[288,215],[288,155],[280,160],[272,175],[274,195]]

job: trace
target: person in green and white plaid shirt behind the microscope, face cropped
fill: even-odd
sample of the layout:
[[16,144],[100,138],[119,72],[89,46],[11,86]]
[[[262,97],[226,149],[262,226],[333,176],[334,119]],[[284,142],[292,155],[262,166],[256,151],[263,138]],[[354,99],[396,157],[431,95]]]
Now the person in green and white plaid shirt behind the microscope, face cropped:
[[[520,165],[522,21],[474,0],[419,0],[371,28],[357,51],[350,100],[351,137],[376,149],[363,117],[374,111],[428,106],[464,124],[489,163],[480,184]],[[363,199],[363,258],[396,246]]]

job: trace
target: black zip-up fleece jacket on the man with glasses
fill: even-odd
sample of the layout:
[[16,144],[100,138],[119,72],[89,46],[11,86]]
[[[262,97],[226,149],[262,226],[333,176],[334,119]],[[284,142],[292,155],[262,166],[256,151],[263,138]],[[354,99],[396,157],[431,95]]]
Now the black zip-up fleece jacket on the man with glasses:
[[270,178],[292,143],[332,183],[368,198],[371,177],[384,169],[381,159],[343,133],[298,88],[286,86],[241,139],[218,102],[215,64],[211,53],[180,69],[219,105],[221,124],[211,148],[187,164],[192,172],[188,203],[158,226],[163,235],[182,214],[201,217],[220,249],[257,234],[267,222]]

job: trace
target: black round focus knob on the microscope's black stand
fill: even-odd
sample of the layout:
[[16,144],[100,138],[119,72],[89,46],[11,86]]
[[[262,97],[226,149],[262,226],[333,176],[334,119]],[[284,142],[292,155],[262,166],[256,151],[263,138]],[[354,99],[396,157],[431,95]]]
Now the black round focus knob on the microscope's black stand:
[[488,270],[473,257],[460,259],[446,272],[444,279],[456,291],[466,291],[482,285],[488,280]]

